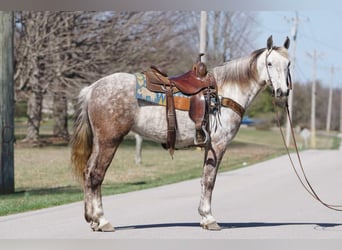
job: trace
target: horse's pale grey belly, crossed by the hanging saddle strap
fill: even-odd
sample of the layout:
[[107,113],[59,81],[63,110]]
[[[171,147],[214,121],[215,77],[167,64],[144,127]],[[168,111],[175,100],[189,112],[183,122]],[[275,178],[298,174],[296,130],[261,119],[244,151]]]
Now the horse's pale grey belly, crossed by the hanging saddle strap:
[[[177,111],[176,146],[190,146],[194,141],[195,125],[190,120],[188,112]],[[144,138],[166,143],[167,122],[165,107],[143,106],[139,108],[132,131]]]

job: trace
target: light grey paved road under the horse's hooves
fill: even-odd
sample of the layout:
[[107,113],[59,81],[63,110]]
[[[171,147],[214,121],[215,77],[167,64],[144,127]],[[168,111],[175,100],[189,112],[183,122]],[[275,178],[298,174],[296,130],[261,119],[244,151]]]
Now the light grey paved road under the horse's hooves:
[[[308,176],[327,201],[342,204],[342,151],[301,153]],[[177,160],[177,159],[176,159]],[[83,203],[0,217],[0,238],[341,239],[342,212],[313,200],[287,156],[217,177],[213,197],[219,232],[199,227],[199,179],[104,197],[114,233],[94,233]]]

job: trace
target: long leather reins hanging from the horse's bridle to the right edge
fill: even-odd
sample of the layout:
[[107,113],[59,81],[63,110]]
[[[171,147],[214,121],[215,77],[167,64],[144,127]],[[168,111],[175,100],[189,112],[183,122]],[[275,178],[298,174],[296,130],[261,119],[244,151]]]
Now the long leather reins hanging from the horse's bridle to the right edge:
[[296,138],[295,138],[295,135],[294,135],[294,130],[293,130],[293,124],[292,124],[292,120],[291,120],[291,117],[290,117],[290,112],[289,112],[289,107],[288,107],[288,104],[286,102],[285,104],[285,107],[284,109],[286,109],[286,113],[287,113],[287,117],[288,117],[288,120],[290,122],[290,127],[291,127],[291,136],[292,136],[292,139],[293,139],[293,142],[294,142],[294,145],[295,145],[295,150],[296,150],[296,155],[297,155],[297,159],[298,159],[298,162],[299,162],[299,166],[300,166],[300,170],[301,170],[301,173],[303,175],[303,178],[300,177],[299,175],[299,172],[297,171],[294,163],[293,163],[293,160],[292,160],[292,157],[290,155],[290,151],[289,151],[289,148],[287,147],[286,145],[286,140],[285,140],[285,136],[284,136],[284,132],[280,126],[280,119],[279,119],[279,115],[278,115],[278,112],[276,110],[276,104],[275,104],[275,100],[273,99],[272,101],[273,103],[273,106],[274,106],[274,110],[275,110],[275,113],[276,113],[276,118],[277,118],[277,123],[278,123],[278,127],[280,129],[280,133],[281,133],[281,136],[282,136],[282,139],[283,139],[283,143],[284,143],[284,146],[285,146],[285,149],[287,151],[287,155],[289,156],[289,159],[290,159],[290,162],[291,162],[291,165],[292,165],[292,168],[299,180],[299,182],[302,184],[302,186],[304,187],[304,189],[315,199],[317,200],[318,202],[320,202],[323,206],[329,208],[329,209],[332,209],[332,210],[335,210],[335,211],[340,211],[342,212],[342,205],[331,205],[331,204],[328,204],[326,202],[324,202],[318,195],[317,193],[315,192],[314,188],[312,187],[310,181],[308,180],[307,178],[307,175],[304,171],[304,167],[303,167],[303,164],[302,164],[302,161],[301,161],[301,158],[300,158],[300,155],[299,155],[299,151],[298,151],[298,147],[297,147],[297,142],[296,142]]

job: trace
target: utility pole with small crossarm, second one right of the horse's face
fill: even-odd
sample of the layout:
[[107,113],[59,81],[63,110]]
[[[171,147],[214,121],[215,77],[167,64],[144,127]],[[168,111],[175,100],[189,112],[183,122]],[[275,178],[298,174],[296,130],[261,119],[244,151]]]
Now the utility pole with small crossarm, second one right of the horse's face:
[[313,68],[312,68],[312,87],[311,87],[311,140],[310,146],[311,148],[316,148],[316,66],[317,66],[317,51],[308,55],[313,60]]

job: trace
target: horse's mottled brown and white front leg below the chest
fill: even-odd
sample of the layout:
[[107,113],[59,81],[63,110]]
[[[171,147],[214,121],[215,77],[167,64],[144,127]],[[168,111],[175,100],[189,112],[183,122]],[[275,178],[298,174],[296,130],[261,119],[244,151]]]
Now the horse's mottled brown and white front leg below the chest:
[[211,212],[211,198],[222,156],[222,150],[214,150],[211,146],[205,150],[201,180],[202,193],[198,212],[202,216],[201,226],[208,230],[221,230]]

